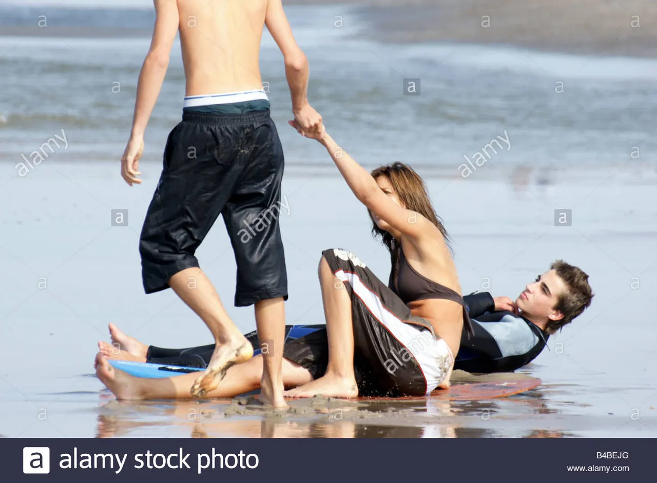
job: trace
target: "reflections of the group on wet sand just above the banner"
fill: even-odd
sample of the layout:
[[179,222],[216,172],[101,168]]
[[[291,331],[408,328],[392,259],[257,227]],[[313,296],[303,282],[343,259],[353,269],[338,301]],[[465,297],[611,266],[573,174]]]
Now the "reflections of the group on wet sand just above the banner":
[[[132,403],[112,400],[99,409],[97,437],[137,436],[144,428],[148,428],[149,434],[155,431],[160,437],[189,435],[191,438],[570,436],[554,429],[526,427],[532,415],[558,413],[557,409],[549,407],[540,389],[508,398],[478,401],[315,398],[292,400],[290,407],[288,413],[276,415],[239,405],[238,400]],[[540,424],[537,422],[535,426]]]

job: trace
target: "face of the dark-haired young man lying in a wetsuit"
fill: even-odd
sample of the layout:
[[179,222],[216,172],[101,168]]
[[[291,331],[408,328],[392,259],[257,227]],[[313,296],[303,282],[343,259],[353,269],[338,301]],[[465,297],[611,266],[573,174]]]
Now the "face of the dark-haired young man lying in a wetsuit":
[[516,299],[516,305],[524,315],[559,320],[562,313],[554,310],[559,296],[568,288],[555,270],[549,270],[539,275],[535,281],[526,286]]

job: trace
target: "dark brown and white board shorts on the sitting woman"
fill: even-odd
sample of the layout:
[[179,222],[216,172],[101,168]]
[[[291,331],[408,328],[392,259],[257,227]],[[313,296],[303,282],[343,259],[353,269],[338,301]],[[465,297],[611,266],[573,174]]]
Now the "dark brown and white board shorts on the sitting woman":
[[[412,315],[354,254],[334,249],[322,256],[351,298],[360,396],[424,396],[449,378],[453,354],[428,321]],[[328,365],[326,329],[287,342],[283,357],[306,368],[314,379],[322,377]]]

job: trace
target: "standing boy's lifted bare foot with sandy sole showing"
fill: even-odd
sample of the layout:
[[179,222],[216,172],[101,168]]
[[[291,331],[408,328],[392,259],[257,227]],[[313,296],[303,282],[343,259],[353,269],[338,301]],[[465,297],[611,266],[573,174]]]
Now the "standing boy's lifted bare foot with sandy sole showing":
[[242,334],[232,342],[216,344],[208,368],[194,381],[191,388],[192,396],[200,398],[215,390],[231,366],[246,362],[251,357],[253,357],[253,346]]

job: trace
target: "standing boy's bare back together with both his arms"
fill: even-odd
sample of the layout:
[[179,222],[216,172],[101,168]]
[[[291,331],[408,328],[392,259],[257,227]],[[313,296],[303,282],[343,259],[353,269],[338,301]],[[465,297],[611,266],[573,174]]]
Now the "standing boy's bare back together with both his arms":
[[323,131],[322,118],[307,99],[308,61],[292,35],[282,0],[153,0],[155,28],[137,83],[130,139],[121,158],[121,175],[141,184],[139,158],[144,132],[162,89],[179,33],[185,66],[185,96],[249,93],[263,88],[260,41],[267,26],[283,54],[290,87],[290,122],[300,132]]

